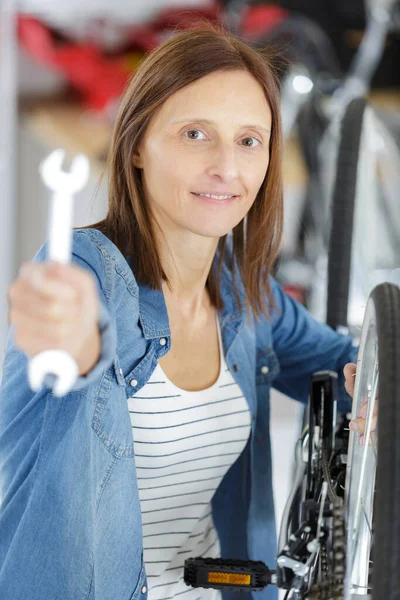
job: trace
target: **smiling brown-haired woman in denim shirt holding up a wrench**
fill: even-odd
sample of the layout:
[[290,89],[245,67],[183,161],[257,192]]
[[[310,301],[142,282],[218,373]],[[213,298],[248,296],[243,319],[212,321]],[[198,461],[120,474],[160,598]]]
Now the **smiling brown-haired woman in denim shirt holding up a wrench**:
[[[211,600],[185,558],[274,568],[270,387],[306,403],[336,370],[345,408],[357,356],[271,276],[281,164],[266,55],[204,26],[143,61],[107,217],[74,231],[73,264],[45,264],[45,244],[9,288],[2,598]],[[62,398],[27,383],[25,355],[49,348],[79,365]]]

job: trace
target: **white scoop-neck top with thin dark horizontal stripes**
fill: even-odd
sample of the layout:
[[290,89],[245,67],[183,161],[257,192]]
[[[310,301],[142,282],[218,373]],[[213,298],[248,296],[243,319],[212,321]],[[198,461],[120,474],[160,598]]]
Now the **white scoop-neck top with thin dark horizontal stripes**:
[[149,600],[221,599],[218,590],[183,582],[186,558],[220,556],[210,502],[250,434],[248,405],[227,368],[217,325],[222,360],[214,385],[187,392],[158,364],[128,399]]

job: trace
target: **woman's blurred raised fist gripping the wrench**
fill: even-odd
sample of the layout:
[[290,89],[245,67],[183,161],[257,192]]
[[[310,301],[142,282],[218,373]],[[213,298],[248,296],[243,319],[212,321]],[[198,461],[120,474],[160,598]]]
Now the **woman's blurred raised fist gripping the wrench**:
[[72,263],[24,263],[8,287],[14,343],[29,357],[64,350],[87,373],[100,355],[99,299],[92,275]]

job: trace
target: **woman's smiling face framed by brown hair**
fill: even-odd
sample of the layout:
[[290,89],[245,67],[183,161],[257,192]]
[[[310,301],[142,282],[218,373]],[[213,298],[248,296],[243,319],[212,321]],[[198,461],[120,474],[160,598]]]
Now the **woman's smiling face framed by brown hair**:
[[219,238],[233,229],[264,181],[270,131],[268,101],[246,71],[215,72],[171,96],[133,159],[162,230]]

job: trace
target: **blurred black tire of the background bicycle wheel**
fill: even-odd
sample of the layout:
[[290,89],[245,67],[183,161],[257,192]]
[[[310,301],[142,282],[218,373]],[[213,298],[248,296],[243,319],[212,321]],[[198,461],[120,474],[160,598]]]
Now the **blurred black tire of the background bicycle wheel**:
[[326,322],[334,330],[347,327],[348,324],[357,167],[365,108],[366,102],[363,98],[352,100],[347,106],[340,127],[328,246]]

